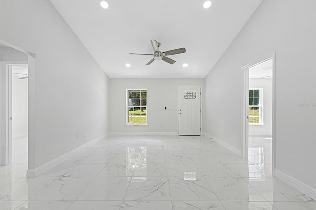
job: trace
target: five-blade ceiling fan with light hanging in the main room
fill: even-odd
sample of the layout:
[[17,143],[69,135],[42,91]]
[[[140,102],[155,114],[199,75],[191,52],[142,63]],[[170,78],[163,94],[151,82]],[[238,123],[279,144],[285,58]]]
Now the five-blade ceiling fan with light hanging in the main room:
[[180,53],[185,53],[186,52],[186,48],[179,48],[179,49],[175,49],[175,50],[169,50],[169,51],[165,51],[165,52],[160,52],[159,47],[160,47],[160,43],[155,41],[155,40],[150,40],[154,49],[154,53],[153,54],[142,54],[142,53],[129,53],[131,55],[151,55],[154,56],[154,58],[152,58],[147,64],[145,65],[149,65],[151,63],[153,63],[153,61],[155,60],[163,60],[169,64],[174,64],[176,61],[172,60],[171,58],[166,57],[166,55],[175,55],[175,54],[180,54]]

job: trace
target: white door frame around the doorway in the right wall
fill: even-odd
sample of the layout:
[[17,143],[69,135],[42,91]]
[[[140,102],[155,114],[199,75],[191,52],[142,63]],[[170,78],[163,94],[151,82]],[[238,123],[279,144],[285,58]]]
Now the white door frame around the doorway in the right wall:
[[249,148],[249,123],[248,123],[248,106],[249,106],[249,69],[262,62],[272,59],[272,175],[275,174],[275,145],[276,145],[276,52],[270,53],[250,64],[242,67],[243,71],[243,102],[242,102],[242,138],[241,154],[243,158],[248,158]]

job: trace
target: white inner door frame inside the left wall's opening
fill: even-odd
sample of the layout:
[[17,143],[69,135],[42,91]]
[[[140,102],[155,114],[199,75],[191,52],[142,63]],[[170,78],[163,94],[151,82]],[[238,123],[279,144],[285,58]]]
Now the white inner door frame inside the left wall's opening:
[[11,163],[12,143],[12,66],[28,61],[1,61],[1,166]]

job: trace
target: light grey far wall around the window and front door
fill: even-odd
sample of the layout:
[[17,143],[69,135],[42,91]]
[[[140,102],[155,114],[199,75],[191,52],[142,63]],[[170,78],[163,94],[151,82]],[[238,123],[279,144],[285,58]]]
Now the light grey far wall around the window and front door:
[[[177,97],[180,85],[203,87],[204,79],[111,79],[110,132],[174,132],[177,134]],[[147,126],[125,125],[127,88],[147,88]],[[172,106],[173,110],[165,110],[166,106]]]

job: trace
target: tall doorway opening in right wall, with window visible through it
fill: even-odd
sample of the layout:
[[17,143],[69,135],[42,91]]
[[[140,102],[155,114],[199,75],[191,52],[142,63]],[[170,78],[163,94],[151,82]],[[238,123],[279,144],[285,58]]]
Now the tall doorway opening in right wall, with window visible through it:
[[245,67],[242,154],[248,158],[249,175],[274,175],[275,54]]

